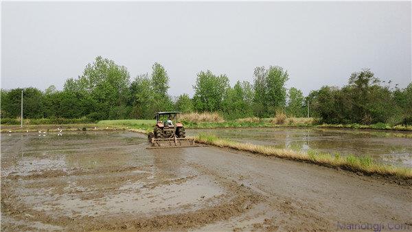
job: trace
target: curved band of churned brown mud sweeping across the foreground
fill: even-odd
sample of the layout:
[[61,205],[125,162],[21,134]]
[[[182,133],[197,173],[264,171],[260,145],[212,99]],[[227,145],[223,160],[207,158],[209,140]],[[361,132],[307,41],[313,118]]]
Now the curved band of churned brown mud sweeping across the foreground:
[[[181,180],[180,180],[181,181]],[[9,183],[2,183],[2,189],[10,189]],[[224,196],[219,196],[218,199],[222,202],[218,205],[198,209],[188,213],[174,213],[163,216],[153,216],[151,218],[139,218],[139,216],[122,215],[122,216],[107,216],[91,217],[66,217],[66,216],[50,216],[44,211],[36,211],[25,207],[14,194],[3,194],[1,206],[3,213],[7,216],[13,216],[19,220],[30,222],[41,222],[43,224],[52,224],[65,229],[76,230],[118,230],[118,229],[144,229],[144,230],[164,230],[164,229],[190,229],[203,224],[214,222],[216,220],[227,220],[233,216],[239,215],[251,208],[258,202],[262,202],[261,196],[254,194],[249,188],[234,183],[225,183],[225,187],[229,187],[231,192]],[[233,196],[233,194],[235,194]],[[226,201],[225,199],[230,199]],[[3,226],[2,226],[3,227]],[[30,228],[30,227],[29,227]],[[14,227],[5,227],[3,229],[27,229],[24,225]]]

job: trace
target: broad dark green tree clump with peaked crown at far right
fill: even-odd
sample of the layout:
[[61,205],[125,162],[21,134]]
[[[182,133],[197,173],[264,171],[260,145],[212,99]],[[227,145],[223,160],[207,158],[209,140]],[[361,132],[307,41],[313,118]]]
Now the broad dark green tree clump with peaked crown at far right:
[[402,121],[399,115],[403,106],[399,106],[397,94],[389,85],[381,86],[369,69],[363,69],[352,73],[343,88],[323,86],[319,91],[312,91],[308,100],[312,115],[319,115],[326,123],[398,124]]

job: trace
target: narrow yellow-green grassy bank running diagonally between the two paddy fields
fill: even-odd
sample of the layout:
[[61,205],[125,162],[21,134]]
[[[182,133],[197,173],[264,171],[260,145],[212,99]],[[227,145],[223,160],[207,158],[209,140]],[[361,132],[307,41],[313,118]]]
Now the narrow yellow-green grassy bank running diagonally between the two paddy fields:
[[290,159],[294,161],[304,161],[314,163],[327,167],[339,167],[344,170],[352,172],[361,172],[363,174],[371,175],[378,174],[380,176],[394,176],[402,179],[412,179],[412,169],[408,167],[395,167],[382,163],[376,163],[370,156],[341,156],[336,153],[334,155],[325,152],[317,152],[309,150],[307,153],[297,152],[287,149],[273,148],[271,146],[261,146],[251,143],[240,143],[230,141],[227,139],[220,139],[214,135],[201,134],[196,137],[199,143],[205,143],[212,146],[233,148],[246,152],[253,152],[255,154],[262,154],[265,156],[276,156],[283,159]]

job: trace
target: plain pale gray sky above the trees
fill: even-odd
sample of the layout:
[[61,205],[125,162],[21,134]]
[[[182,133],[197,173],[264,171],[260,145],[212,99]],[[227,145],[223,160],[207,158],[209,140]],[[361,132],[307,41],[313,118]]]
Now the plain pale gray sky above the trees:
[[171,95],[192,95],[201,70],[233,85],[269,65],[305,94],[364,67],[411,82],[411,2],[2,3],[1,30],[3,89],[62,89],[99,55],[132,79],[160,62]]

